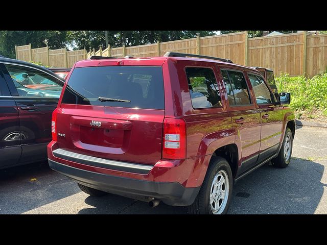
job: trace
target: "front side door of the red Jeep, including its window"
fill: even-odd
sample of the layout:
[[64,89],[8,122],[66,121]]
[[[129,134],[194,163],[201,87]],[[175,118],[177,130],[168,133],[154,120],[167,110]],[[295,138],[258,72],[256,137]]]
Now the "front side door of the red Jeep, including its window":
[[261,76],[248,73],[248,77],[262,118],[259,163],[269,158],[278,148],[282,137],[284,112],[279,105],[275,105],[275,96]]

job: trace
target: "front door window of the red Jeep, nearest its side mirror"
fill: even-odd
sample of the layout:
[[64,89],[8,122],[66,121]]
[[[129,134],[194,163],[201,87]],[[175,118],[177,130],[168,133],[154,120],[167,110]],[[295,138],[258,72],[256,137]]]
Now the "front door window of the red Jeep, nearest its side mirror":
[[264,80],[260,76],[248,74],[250,83],[253,87],[256,104],[268,104],[273,103],[271,101],[271,93],[265,84]]

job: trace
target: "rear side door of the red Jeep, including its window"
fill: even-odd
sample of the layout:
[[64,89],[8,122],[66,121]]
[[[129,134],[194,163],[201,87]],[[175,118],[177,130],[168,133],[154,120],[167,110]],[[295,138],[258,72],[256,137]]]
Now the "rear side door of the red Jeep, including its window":
[[253,167],[260,150],[260,112],[251,101],[248,84],[243,71],[221,68],[221,75],[227,92],[228,111],[232,127],[237,130],[236,140],[241,145],[241,162],[238,175]]

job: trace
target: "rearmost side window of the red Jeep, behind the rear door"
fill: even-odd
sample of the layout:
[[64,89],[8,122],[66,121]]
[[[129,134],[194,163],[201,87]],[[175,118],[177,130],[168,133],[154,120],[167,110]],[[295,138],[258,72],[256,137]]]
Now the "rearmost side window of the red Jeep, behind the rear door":
[[214,71],[211,68],[186,67],[193,108],[222,107]]

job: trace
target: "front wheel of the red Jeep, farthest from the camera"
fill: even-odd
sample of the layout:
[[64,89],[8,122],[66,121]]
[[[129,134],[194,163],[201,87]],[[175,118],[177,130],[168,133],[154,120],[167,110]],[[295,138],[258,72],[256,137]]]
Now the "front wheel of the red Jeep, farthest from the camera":
[[271,160],[275,167],[287,167],[291,161],[293,149],[293,134],[289,128],[286,128],[283,145],[278,156]]

